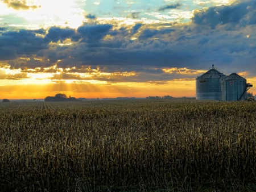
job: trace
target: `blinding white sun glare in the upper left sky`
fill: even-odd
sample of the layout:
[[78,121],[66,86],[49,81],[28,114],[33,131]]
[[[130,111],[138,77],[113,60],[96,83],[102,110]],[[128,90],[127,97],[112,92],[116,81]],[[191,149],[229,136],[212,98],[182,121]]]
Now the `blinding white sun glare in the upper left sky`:
[[[7,7],[1,2],[0,5]],[[29,2],[27,5],[30,6]],[[36,9],[15,10],[7,7],[4,9],[5,12],[1,12],[1,14],[16,14],[28,22],[26,27],[29,28],[48,28],[50,26],[77,28],[81,26],[84,20],[84,10],[77,5],[75,0],[34,1],[33,5]]]

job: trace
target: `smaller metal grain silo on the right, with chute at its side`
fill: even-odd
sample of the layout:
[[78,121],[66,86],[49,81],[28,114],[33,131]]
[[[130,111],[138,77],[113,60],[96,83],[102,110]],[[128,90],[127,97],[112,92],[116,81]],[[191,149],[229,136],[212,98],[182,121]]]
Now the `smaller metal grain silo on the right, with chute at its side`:
[[253,85],[246,84],[246,79],[237,73],[225,77],[222,82],[222,101],[241,101],[247,98],[247,90]]

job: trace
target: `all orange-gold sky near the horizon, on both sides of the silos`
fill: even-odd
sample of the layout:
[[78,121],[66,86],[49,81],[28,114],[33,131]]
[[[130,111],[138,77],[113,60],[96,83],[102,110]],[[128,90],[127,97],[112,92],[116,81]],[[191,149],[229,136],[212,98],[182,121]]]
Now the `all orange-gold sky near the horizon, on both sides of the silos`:
[[[99,69],[98,69],[99,70]],[[68,97],[75,98],[116,98],[116,97],[136,97],[144,98],[148,96],[170,95],[172,97],[195,97],[196,94],[196,76],[200,76],[204,70],[188,70],[169,68],[163,69],[164,73],[177,73],[181,77],[194,76],[194,78],[180,78],[173,81],[152,81],[152,82],[115,82],[123,76],[135,76],[135,73],[102,73],[97,71],[95,74],[82,73],[81,77],[77,73],[64,74],[56,70],[55,73],[27,73],[20,70],[0,69],[0,76],[5,80],[0,80],[0,99],[44,99],[47,96],[54,96],[57,93],[64,93]],[[41,76],[39,75],[41,74]],[[65,76],[77,75],[79,80],[64,80]],[[97,74],[97,75],[96,75]],[[35,76],[36,75],[36,76]],[[246,73],[240,73],[246,76]],[[26,77],[19,79],[22,76]],[[105,78],[108,76],[108,78]],[[11,78],[10,78],[11,77]],[[17,79],[15,79],[16,77]],[[92,80],[98,78],[98,80]],[[57,79],[56,79],[57,78]],[[247,79],[247,83],[256,86],[256,78]],[[251,87],[250,92],[256,93],[256,87]]]

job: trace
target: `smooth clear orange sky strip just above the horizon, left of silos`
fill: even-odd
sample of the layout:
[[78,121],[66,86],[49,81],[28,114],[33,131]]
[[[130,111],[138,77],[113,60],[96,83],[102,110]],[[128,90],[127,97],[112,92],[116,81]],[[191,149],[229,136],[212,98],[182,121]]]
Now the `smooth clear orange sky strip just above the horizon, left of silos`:
[[1,86],[1,98],[43,99],[64,93],[76,98],[116,98],[164,96],[195,97],[195,81],[170,81],[166,84],[115,83],[115,84],[27,84]]

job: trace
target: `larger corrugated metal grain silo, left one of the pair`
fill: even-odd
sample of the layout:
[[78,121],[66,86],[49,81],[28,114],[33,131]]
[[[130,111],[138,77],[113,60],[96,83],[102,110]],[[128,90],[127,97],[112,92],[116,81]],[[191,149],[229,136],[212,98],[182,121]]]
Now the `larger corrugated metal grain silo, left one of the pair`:
[[225,77],[212,65],[212,69],[196,78],[196,99],[221,101],[221,82]]

